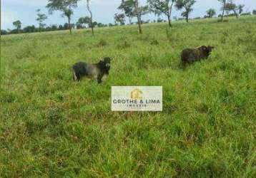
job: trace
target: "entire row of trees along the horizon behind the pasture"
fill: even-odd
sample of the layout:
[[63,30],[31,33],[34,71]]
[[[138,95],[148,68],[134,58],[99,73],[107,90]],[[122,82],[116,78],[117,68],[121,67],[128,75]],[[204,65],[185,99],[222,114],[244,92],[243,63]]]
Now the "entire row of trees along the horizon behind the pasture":
[[[39,26],[36,27],[26,26],[25,28],[21,29],[21,21],[14,21],[14,29],[13,30],[1,30],[1,35],[10,34],[10,33],[33,33],[33,32],[41,32],[41,31],[56,31],[56,30],[69,30],[69,33],[72,34],[73,28],[91,28],[92,35],[94,35],[94,28],[95,27],[103,27],[103,26],[117,26],[117,25],[124,25],[126,22],[126,18],[129,19],[129,24],[132,24],[132,19],[136,18],[139,33],[142,33],[142,23],[147,23],[149,21],[142,21],[142,16],[148,13],[154,13],[156,16],[164,15],[167,17],[167,21],[169,27],[172,27],[172,11],[173,9],[177,9],[181,12],[182,18],[189,22],[189,15],[192,13],[193,6],[196,3],[196,0],[147,0],[147,4],[145,6],[139,6],[138,0],[122,0],[118,9],[122,11],[121,14],[114,14],[114,21],[115,23],[97,23],[97,21],[93,21],[93,14],[90,8],[90,1],[85,0],[86,2],[86,9],[89,12],[89,16],[84,16],[79,18],[76,24],[71,23],[72,15],[74,14],[74,9],[77,8],[78,2],[84,0],[48,0],[48,4],[46,8],[49,10],[49,14],[53,14],[54,11],[61,11],[61,16],[67,18],[67,23],[64,25],[51,25],[46,26],[46,19],[48,18],[46,14],[41,13],[40,9],[36,10],[36,21],[38,21]],[[242,15],[250,15],[251,13],[243,13],[245,5],[243,4],[235,4],[232,0],[217,0],[222,4],[222,14],[218,16],[221,18],[220,21],[223,21],[225,16],[239,16]],[[206,11],[206,15],[204,18],[212,18],[216,16],[217,11],[215,9],[208,9]],[[256,14],[256,10],[252,11],[252,14]],[[173,19],[177,19],[174,17]],[[200,18],[197,18],[200,19]],[[162,19],[158,19],[157,21],[163,21]]]

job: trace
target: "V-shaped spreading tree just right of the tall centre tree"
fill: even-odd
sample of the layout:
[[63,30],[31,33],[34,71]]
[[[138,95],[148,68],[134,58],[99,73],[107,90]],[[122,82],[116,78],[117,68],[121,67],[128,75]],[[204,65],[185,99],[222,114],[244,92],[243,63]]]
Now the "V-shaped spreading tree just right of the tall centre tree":
[[149,10],[154,14],[167,16],[169,27],[172,27],[171,16],[172,6],[176,0],[147,0],[149,4]]

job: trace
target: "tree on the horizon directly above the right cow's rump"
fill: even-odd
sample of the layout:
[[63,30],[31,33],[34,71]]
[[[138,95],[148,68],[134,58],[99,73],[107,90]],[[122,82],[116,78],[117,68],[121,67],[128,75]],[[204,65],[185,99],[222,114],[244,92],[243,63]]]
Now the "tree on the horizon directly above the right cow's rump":
[[186,21],[189,22],[189,14],[193,11],[192,6],[195,4],[195,0],[177,0],[176,1],[176,8],[178,10],[185,9],[185,11],[182,12],[182,16],[186,18]]

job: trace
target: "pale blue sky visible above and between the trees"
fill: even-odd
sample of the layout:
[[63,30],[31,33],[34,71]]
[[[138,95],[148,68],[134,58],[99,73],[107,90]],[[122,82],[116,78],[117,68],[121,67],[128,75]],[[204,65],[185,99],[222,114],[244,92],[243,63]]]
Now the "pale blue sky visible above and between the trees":
[[[85,6],[85,0],[79,1],[79,6],[74,9],[74,16],[72,16],[72,23],[76,23],[79,17],[89,16]],[[121,0],[91,0],[91,9],[93,12],[94,21],[101,23],[114,23],[114,14],[121,11],[117,10]],[[139,0],[140,5],[146,4],[147,0]],[[256,9],[256,0],[234,0],[236,4],[245,4],[245,12]],[[48,16],[46,20],[47,26],[54,24],[64,24],[67,22],[66,18],[61,17],[61,12],[54,11],[54,14],[49,15],[45,8],[47,0],[1,0],[1,29],[14,28],[12,22],[20,20],[22,27],[34,24],[38,26],[36,21],[36,9],[41,9],[41,13]],[[220,3],[217,0],[197,0],[194,6],[194,11],[191,17],[205,16],[207,9],[216,9],[217,14],[220,13]],[[172,16],[180,16],[181,11],[174,9]],[[147,14],[143,16],[143,20],[157,19],[154,14]],[[166,19],[165,16],[161,16]],[[134,19],[135,21],[135,19]]]

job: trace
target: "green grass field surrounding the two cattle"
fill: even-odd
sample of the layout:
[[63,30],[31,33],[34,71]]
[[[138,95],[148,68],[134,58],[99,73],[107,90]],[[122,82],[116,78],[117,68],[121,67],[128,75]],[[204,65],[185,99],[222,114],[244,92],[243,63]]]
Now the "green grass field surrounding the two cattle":
[[[1,36],[0,177],[255,177],[256,16]],[[183,48],[215,46],[179,68]],[[111,56],[109,79],[72,81]],[[163,112],[112,112],[162,85]]]

